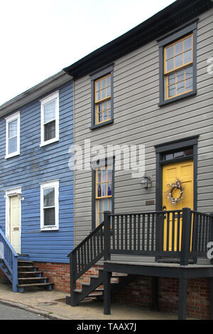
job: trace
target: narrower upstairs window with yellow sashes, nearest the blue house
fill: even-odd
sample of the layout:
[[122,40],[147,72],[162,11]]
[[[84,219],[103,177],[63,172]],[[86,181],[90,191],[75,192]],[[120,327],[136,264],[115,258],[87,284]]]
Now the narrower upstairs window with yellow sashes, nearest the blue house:
[[113,122],[113,65],[92,73],[92,110],[91,128],[111,124]]

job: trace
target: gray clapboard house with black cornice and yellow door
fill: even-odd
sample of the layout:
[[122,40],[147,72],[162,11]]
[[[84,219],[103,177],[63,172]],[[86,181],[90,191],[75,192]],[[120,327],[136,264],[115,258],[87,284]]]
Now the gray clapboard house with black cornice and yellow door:
[[[152,277],[153,308],[163,278],[179,279],[179,318],[186,311],[208,318],[210,301],[213,317],[207,257],[213,241],[212,5],[175,1],[64,69],[75,82],[75,145],[82,150],[75,168],[72,306],[92,291],[98,295],[104,284],[104,313],[110,313],[111,273],[117,272],[129,281],[131,275]],[[102,157],[101,146],[108,152]],[[145,161],[145,173],[134,158]],[[76,289],[97,265],[99,276]],[[210,301],[203,313],[186,303],[187,283],[200,279],[202,286],[207,278]]]

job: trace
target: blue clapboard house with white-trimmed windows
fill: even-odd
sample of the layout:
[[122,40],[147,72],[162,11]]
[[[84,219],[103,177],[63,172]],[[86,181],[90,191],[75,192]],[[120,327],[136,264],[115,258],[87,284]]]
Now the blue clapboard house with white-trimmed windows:
[[72,94],[72,77],[59,72],[0,107],[0,271],[13,291],[52,289],[55,268],[69,267]]

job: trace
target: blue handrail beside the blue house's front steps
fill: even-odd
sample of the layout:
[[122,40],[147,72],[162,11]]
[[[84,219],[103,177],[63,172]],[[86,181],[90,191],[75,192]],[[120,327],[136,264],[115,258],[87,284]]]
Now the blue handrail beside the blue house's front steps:
[[17,284],[18,284],[18,254],[16,253],[15,249],[4,235],[4,232],[0,228],[0,242],[3,244],[3,257],[1,257],[2,261],[6,265],[7,269],[9,270],[12,279],[11,282],[13,284],[13,291],[17,291]]

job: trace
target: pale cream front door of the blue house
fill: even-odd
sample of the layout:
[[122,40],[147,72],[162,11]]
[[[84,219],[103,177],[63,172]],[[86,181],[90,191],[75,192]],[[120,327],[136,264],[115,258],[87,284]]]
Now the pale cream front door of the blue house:
[[21,253],[20,199],[18,195],[10,197],[10,242],[16,253]]

